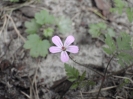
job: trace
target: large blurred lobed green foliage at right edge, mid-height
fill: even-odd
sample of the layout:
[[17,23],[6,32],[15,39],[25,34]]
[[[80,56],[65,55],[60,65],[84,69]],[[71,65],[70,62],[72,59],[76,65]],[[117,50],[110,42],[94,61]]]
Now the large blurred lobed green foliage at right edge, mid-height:
[[103,50],[109,54],[116,54],[116,58],[118,58],[119,64],[124,66],[124,63],[133,62],[133,56],[128,54],[126,51],[131,50],[130,46],[131,37],[126,33],[121,33],[120,37],[116,39],[116,44],[114,40],[110,37],[110,35],[106,36],[105,44],[108,47],[103,47]]

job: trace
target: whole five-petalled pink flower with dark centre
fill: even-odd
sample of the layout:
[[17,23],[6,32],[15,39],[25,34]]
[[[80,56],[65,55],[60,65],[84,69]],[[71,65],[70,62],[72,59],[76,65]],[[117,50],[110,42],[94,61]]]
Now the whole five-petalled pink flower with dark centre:
[[78,51],[79,51],[78,46],[71,45],[74,42],[74,37],[72,35],[70,35],[66,38],[64,44],[62,43],[59,36],[52,37],[52,42],[56,46],[50,47],[49,51],[51,53],[61,52],[61,61],[62,62],[67,62],[69,60],[69,56],[68,56],[67,52],[78,53]]

